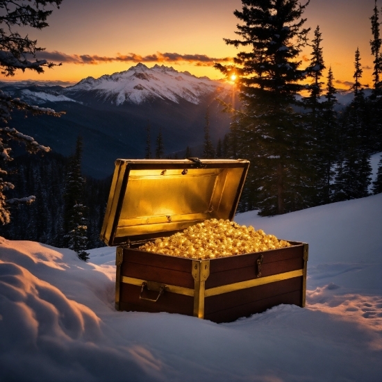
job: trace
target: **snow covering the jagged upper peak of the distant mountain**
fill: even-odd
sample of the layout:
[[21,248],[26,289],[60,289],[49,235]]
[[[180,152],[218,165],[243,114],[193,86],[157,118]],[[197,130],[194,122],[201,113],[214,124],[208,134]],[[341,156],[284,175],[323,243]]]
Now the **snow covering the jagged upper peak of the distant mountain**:
[[125,102],[140,104],[156,98],[175,103],[185,99],[198,104],[207,94],[229,89],[229,83],[213,81],[206,76],[198,78],[188,72],[177,72],[173,67],[154,65],[149,68],[139,63],[124,72],[106,74],[97,79],[85,78],[63,92],[70,95],[81,90],[97,91],[103,99],[113,98],[118,106]]

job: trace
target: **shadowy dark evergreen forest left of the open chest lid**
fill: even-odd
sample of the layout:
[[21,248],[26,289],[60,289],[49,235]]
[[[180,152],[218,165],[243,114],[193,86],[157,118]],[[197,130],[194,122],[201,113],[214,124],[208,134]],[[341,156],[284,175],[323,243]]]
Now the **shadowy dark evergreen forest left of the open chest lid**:
[[[78,150],[69,158],[54,152],[44,153],[44,156],[25,154],[13,160],[8,178],[15,185],[15,190],[10,190],[8,195],[33,194],[35,201],[11,207],[11,224],[0,225],[1,236],[10,240],[33,240],[54,247],[72,247],[78,254],[85,249],[103,247],[99,234],[111,176],[99,180],[82,176],[81,167],[79,174],[71,171],[75,165],[78,166],[76,154],[78,156]],[[78,207],[74,206],[80,205],[84,210],[79,213],[86,222],[80,220],[80,224],[73,224],[72,220],[78,217]],[[86,229],[81,232],[80,228],[76,235],[70,234],[77,226],[85,226]],[[77,242],[76,237],[80,238]]]

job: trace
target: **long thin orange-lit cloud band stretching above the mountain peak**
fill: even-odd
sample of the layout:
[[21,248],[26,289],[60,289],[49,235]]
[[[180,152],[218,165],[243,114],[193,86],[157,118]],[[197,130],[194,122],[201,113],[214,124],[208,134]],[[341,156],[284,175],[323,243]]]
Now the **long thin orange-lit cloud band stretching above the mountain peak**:
[[53,63],[71,63],[77,65],[98,65],[101,63],[194,63],[198,66],[210,66],[213,63],[224,63],[232,60],[230,57],[214,58],[205,54],[179,54],[156,52],[148,56],[140,56],[136,53],[123,55],[117,53],[115,57],[97,56],[89,54],[67,54],[60,51],[42,51],[38,53],[39,60],[48,60]]

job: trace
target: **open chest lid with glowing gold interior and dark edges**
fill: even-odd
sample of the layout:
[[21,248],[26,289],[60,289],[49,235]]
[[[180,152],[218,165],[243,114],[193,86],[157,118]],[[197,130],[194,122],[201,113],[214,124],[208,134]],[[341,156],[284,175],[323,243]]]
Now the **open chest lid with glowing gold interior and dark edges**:
[[144,242],[206,219],[232,220],[248,167],[241,159],[117,159],[101,240]]

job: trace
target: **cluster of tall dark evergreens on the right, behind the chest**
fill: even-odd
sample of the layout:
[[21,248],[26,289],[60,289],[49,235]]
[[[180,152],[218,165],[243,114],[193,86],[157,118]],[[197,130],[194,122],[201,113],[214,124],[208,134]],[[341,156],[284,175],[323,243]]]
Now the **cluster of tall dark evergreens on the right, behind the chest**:
[[[370,51],[354,47],[353,99],[338,107],[335,72],[325,63],[319,26],[303,14],[309,2],[242,1],[237,38],[243,47],[233,65],[215,64],[227,78],[238,77],[241,108],[232,115],[229,155],[250,160],[239,211],[259,215],[367,197],[370,156],[382,151],[382,40],[377,2],[370,10]],[[351,42],[349,42],[351,43]],[[301,51],[310,55],[302,65]],[[371,54],[372,90],[365,94],[362,54]],[[326,69],[327,74],[326,74]],[[304,81],[303,81],[304,80]],[[382,191],[382,160],[373,192]]]

